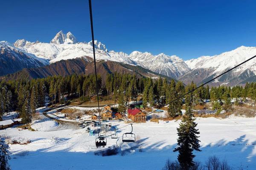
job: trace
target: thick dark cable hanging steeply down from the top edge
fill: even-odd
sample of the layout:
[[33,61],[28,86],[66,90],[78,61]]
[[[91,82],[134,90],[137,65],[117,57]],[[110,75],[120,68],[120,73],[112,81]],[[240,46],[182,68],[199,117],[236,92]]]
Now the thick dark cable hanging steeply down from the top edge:
[[[90,25],[91,25],[91,33],[92,33],[92,43],[93,43],[93,61],[94,61],[94,72],[95,72],[95,80],[96,80],[96,94],[98,101],[98,111],[99,111],[99,89],[97,84],[97,71],[96,71],[96,59],[95,59],[95,46],[94,46],[94,34],[93,34],[93,12],[92,12],[92,1],[89,0],[89,10],[90,10]],[[99,124],[100,124],[100,111],[99,111]]]

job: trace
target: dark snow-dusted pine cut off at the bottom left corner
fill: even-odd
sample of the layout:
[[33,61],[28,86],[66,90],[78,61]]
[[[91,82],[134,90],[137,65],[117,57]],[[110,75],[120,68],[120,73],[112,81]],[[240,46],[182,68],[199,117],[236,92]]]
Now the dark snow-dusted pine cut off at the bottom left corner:
[[8,160],[10,159],[9,146],[6,144],[4,138],[0,138],[0,169],[11,170]]

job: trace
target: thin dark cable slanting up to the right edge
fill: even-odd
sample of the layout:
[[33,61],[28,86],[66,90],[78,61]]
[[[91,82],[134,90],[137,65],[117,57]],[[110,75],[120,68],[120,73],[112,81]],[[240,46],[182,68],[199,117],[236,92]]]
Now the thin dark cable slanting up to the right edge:
[[[192,90],[190,90],[189,92],[186,92],[184,95],[181,95],[180,97],[178,97],[178,98],[174,99],[173,101],[170,101],[169,103],[167,103],[167,104],[163,105],[162,107],[160,107],[160,108],[158,108],[158,109],[154,110],[153,112],[148,113],[146,116],[151,115],[152,113],[156,112],[157,110],[159,110],[159,109],[161,109],[161,108],[163,108],[163,107],[167,106],[168,104],[171,104],[171,103],[172,103],[172,102],[174,102],[174,101],[177,101],[177,100],[178,100],[178,99],[180,99],[180,98],[183,98],[185,95],[188,95],[189,93],[194,92],[195,90],[199,89],[200,87],[202,87],[202,86],[204,86],[204,85],[208,84],[209,82],[211,82],[211,81],[215,80],[216,78],[221,77],[222,75],[226,74],[227,72],[230,72],[231,70],[236,69],[237,67],[239,67],[239,66],[241,66],[242,64],[244,64],[244,63],[246,63],[246,62],[248,62],[248,61],[252,60],[253,58],[256,58],[256,55],[254,55],[253,57],[251,57],[251,58],[247,59],[246,61],[243,61],[242,63],[240,63],[240,64],[238,64],[238,65],[234,66],[233,68],[228,69],[226,72],[223,72],[222,74],[220,74],[220,75],[216,76],[215,78],[212,78],[211,80],[207,81],[206,83],[201,84],[201,85],[200,85],[200,86],[198,86],[197,88],[192,89]],[[135,121],[131,122],[130,124],[133,124],[134,122],[135,122]],[[127,127],[127,126],[129,126],[130,124],[127,124],[127,125],[125,125],[125,126],[123,126],[123,127],[120,127],[120,128],[118,128],[118,129],[122,129],[122,128],[124,128],[124,127]]]

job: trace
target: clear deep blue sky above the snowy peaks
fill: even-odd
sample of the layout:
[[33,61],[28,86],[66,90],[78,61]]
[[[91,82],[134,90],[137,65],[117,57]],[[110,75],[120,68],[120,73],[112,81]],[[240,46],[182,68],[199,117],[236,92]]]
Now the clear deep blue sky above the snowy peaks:
[[[108,49],[184,60],[256,46],[253,0],[92,0],[94,35]],[[70,31],[90,41],[87,0],[3,0],[0,40],[49,42]]]

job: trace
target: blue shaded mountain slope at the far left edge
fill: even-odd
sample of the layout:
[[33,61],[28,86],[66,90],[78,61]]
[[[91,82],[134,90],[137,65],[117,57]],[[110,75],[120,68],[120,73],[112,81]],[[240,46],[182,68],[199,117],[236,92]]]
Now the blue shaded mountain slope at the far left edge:
[[[26,41],[20,41],[23,45]],[[23,68],[37,68],[48,65],[49,61],[38,58],[6,41],[0,41],[0,75],[17,72]]]

